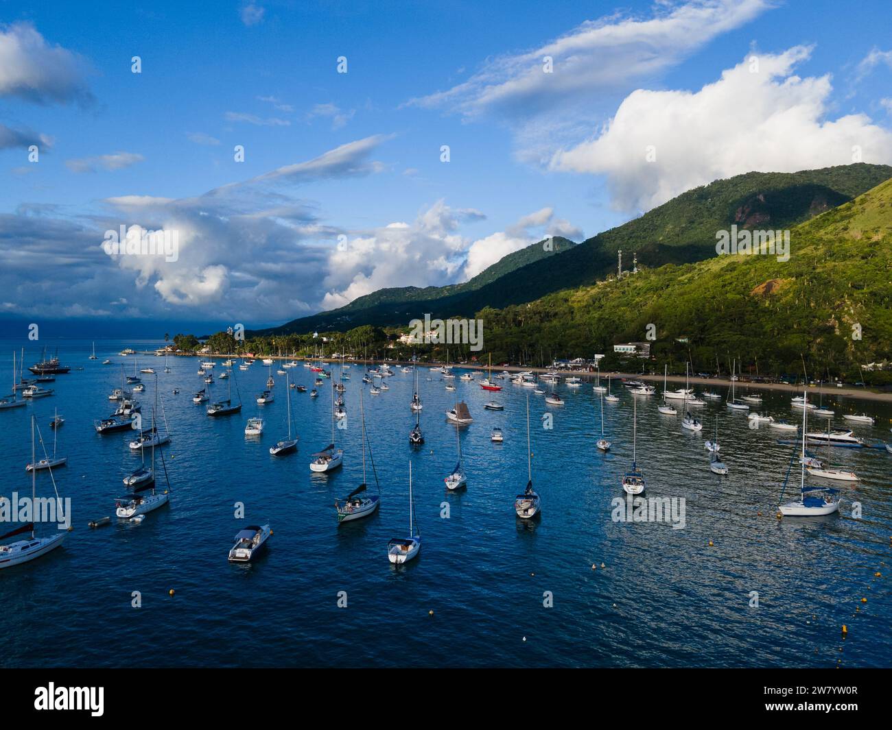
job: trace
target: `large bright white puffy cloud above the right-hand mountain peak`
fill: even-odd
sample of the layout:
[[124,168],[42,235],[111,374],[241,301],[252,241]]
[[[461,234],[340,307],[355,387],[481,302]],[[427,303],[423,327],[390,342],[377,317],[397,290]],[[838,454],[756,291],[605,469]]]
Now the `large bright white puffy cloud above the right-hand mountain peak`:
[[617,209],[648,210],[697,185],[757,171],[892,162],[892,133],[864,114],[829,119],[830,78],[800,78],[810,49],[747,57],[699,91],[629,94],[591,140],[550,167],[607,176]]

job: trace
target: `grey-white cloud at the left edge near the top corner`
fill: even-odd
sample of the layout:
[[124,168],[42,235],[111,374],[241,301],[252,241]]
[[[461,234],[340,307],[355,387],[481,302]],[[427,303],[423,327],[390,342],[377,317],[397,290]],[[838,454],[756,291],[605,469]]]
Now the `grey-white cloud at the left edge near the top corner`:
[[29,22],[0,25],[0,96],[32,103],[92,103],[87,64],[51,45]]

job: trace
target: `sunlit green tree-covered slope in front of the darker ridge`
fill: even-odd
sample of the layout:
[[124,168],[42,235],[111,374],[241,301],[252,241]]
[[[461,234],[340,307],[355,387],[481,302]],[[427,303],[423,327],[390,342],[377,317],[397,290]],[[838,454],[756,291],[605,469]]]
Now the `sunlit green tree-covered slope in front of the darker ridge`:
[[698,263],[646,268],[477,316],[497,358],[611,352],[615,342],[645,340],[655,324],[652,352],[682,371],[689,352],[709,371],[717,355],[723,369],[739,357],[762,372],[801,373],[800,354],[810,374],[851,371],[892,356],[892,180],[794,228],[787,262],[716,256],[713,248]]

